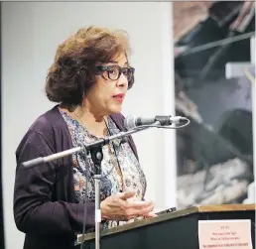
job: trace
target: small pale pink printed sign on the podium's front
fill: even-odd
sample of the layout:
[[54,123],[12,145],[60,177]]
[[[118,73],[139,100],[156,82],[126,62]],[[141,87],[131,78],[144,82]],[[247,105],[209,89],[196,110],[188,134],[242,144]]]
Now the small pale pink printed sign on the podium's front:
[[251,220],[199,220],[199,249],[252,249]]

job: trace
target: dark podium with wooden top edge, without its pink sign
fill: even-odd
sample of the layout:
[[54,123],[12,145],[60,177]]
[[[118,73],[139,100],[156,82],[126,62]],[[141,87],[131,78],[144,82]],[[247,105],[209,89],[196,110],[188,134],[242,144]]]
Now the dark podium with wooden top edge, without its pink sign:
[[[100,248],[198,249],[198,221],[224,219],[250,219],[255,248],[255,204],[199,205],[105,229]],[[94,249],[94,239],[94,233],[87,233],[84,248]],[[77,240],[81,241],[81,236]]]

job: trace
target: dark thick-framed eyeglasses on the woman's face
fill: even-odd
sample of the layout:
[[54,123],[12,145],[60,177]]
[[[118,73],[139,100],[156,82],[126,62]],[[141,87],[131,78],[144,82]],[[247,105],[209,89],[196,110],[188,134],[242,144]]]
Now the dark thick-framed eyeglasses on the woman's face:
[[97,74],[101,75],[104,79],[117,80],[123,73],[128,82],[132,80],[135,68],[133,67],[121,67],[119,65],[98,65]]

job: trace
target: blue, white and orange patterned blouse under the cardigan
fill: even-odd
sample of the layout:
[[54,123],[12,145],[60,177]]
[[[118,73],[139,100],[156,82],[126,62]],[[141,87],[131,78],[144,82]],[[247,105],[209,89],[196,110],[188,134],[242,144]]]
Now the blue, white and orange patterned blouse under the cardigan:
[[[86,128],[83,127],[78,121],[72,119],[64,111],[60,110],[60,112],[67,124],[73,147],[82,146],[97,140],[97,138],[88,133]],[[108,130],[111,135],[120,132],[110,117],[107,118],[107,123]],[[102,152],[103,160],[101,162],[102,179],[100,180],[100,199],[103,200],[113,193],[127,190],[135,191],[135,197],[143,199],[146,191],[146,179],[129,143],[124,142],[119,144],[114,142],[103,146]],[[87,174],[85,168],[85,158],[82,152],[74,153],[72,155],[72,160],[74,191],[76,198],[79,202],[85,202],[85,200],[94,201],[94,180],[92,178],[94,171],[92,160],[89,158],[89,169]],[[88,180],[86,180],[86,175]],[[133,220],[111,220],[104,222],[102,225],[103,228],[110,228],[132,221]]]

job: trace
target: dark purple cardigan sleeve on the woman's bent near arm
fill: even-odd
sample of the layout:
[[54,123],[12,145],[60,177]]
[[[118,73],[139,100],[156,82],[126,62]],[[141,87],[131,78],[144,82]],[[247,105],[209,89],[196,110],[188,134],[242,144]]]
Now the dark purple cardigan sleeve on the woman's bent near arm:
[[[84,203],[51,201],[57,180],[57,163],[52,161],[30,169],[21,165],[51,154],[51,146],[40,133],[33,130],[28,132],[17,150],[13,205],[16,226],[25,233],[74,235],[82,228]],[[92,202],[85,204],[86,225],[93,225],[95,205]]]

